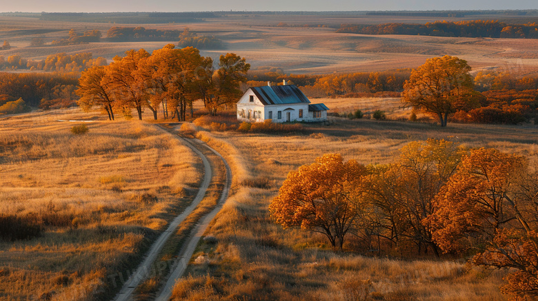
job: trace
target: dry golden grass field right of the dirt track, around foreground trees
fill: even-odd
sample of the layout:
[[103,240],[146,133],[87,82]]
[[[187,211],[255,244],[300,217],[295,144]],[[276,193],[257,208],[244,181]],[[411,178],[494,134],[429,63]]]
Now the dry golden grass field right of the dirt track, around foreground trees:
[[[349,106],[336,101],[336,110]],[[536,162],[538,129],[333,120],[329,126],[305,125],[303,134],[292,135],[199,132],[199,138],[235,163],[236,193],[206,233],[212,239],[199,245],[190,276],[177,282],[174,300],[362,300],[350,296],[368,289],[373,300],[506,300],[499,291],[505,271],[450,258],[403,260],[333,252],[323,236],[275,225],[268,205],[288,172],[326,153],[363,164],[390,163],[410,141],[444,138],[523,154]]]

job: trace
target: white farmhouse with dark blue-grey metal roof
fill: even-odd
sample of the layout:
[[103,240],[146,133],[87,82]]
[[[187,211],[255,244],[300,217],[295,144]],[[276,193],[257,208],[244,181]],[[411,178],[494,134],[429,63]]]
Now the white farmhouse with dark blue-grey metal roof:
[[327,120],[328,107],[311,105],[308,97],[295,85],[250,87],[237,103],[237,120],[283,123],[291,121],[319,122]]

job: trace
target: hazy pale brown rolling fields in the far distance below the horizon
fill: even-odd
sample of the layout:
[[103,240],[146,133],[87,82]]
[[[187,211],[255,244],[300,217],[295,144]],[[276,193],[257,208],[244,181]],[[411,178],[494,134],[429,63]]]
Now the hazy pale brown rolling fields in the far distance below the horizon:
[[[492,17],[492,16],[489,16]],[[476,18],[488,19],[481,15]],[[497,16],[498,19],[498,16]],[[293,21],[290,21],[293,20]],[[190,28],[199,34],[222,39],[225,49],[202,51],[204,56],[218,58],[225,52],[246,57],[252,68],[271,66],[285,72],[328,74],[333,72],[371,72],[395,68],[415,68],[433,56],[450,54],[466,59],[473,69],[497,69],[529,73],[538,68],[538,40],[535,39],[473,39],[421,36],[337,34],[341,23],[386,23],[436,21],[430,17],[390,16],[288,16],[288,15],[230,15],[206,19],[197,23],[140,24],[145,28],[183,30]],[[448,21],[461,19],[448,18]],[[517,22],[513,17],[508,21]],[[290,25],[323,24],[333,28],[278,27]],[[0,40],[14,46],[1,50],[0,55],[20,54],[31,59],[43,59],[49,54],[92,52],[106,59],[126,50],[144,48],[148,51],[162,48],[168,42],[88,43],[68,46],[29,47],[34,37],[43,37],[47,43],[68,37],[68,31],[98,29],[106,37],[112,26],[135,26],[119,23],[75,23],[41,21],[36,18],[0,17]]]

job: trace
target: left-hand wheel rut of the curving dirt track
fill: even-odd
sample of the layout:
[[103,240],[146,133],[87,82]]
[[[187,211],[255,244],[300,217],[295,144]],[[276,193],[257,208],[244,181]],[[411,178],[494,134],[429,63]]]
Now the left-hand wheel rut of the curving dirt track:
[[[147,276],[150,274],[150,271],[152,270],[152,264],[153,262],[155,262],[155,259],[159,255],[159,251],[161,251],[165,242],[168,240],[168,238],[170,238],[170,236],[172,236],[173,233],[175,233],[177,226],[181,224],[181,222],[183,222],[183,220],[185,220],[185,218],[189,216],[189,214],[192,213],[192,211],[197,207],[197,205],[206,195],[206,190],[208,189],[211,178],[213,176],[209,160],[204,154],[202,154],[202,152],[197,149],[197,147],[195,147],[194,144],[190,143],[188,139],[181,138],[181,140],[185,141],[185,144],[190,149],[192,149],[192,152],[195,152],[198,156],[200,156],[201,160],[203,161],[203,180],[200,189],[198,190],[198,194],[196,195],[195,199],[192,200],[192,203],[189,205],[189,207],[187,207],[182,214],[174,218],[174,220],[170,222],[170,225],[168,226],[166,231],[161,233],[161,236],[159,236],[159,238],[157,238],[157,240],[153,243],[150,248],[150,251],[146,253],[146,258],[144,258],[143,262],[139,264],[137,271],[130,276],[130,278],[125,282],[125,284],[123,284],[121,291],[119,291],[119,293],[114,298],[115,301],[127,301],[131,299],[132,292],[135,291],[138,284],[140,284],[140,282],[142,282],[143,280],[146,280]],[[213,152],[215,152],[215,150],[213,150]],[[228,168],[228,165],[226,166]],[[226,171],[226,176],[228,176],[228,169]],[[228,184],[226,185],[226,187],[228,187]],[[226,193],[226,195],[228,195],[228,193]]]

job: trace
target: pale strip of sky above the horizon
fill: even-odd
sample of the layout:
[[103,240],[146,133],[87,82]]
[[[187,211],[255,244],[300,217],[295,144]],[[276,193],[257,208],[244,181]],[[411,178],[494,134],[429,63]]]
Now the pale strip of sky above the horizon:
[[2,0],[0,12],[526,10],[537,0]]

